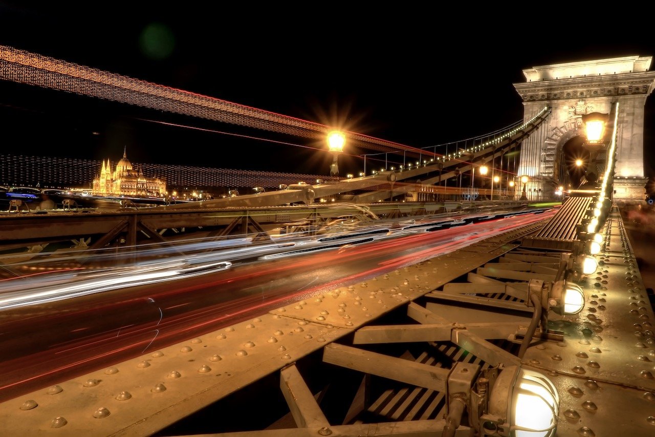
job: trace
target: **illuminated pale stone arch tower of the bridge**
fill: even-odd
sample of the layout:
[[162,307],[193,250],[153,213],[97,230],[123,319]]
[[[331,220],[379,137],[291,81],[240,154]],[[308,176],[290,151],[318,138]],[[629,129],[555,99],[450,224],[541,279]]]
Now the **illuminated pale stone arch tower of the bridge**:
[[651,61],[652,56],[624,56],[523,70],[525,82],[514,83],[523,100],[523,118],[531,119],[544,106],[552,108],[539,132],[521,146],[517,176],[530,178],[529,198],[554,186],[577,188],[571,150],[584,141],[582,116],[609,114],[619,102],[613,198],[617,203],[645,201],[644,110],[655,83]]

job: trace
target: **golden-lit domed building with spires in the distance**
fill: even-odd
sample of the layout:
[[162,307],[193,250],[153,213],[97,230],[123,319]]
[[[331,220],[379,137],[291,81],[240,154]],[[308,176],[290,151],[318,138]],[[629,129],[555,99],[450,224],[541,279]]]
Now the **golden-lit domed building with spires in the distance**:
[[147,177],[143,175],[143,167],[134,169],[127,159],[127,151],[111,169],[111,162],[102,161],[100,175],[97,175],[91,187],[94,196],[153,196],[161,198],[166,196],[166,179],[160,177]]

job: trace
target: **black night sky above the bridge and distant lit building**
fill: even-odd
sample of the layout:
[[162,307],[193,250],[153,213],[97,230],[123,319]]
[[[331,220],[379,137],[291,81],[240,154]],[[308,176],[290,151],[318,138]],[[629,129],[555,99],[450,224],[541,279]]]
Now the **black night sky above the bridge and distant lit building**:
[[[515,18],[498,11],[480,11],[483,21],[460,18],[470,16],[464,6],[440,12],[377,4],[357,11],[347,4],[305,10],[278,3],[212,2],[218,6],[211,9],[138,3],[145,6],[112,2],[72,12],[59,3],[0,2],[0,45],[326,125],[346,123],[350,131],[417,148],[522,119],[513,83],[524,81],[524,68],[655,56],[655,39],[640,35],[635,20],[617,29],[605,15],[599,16],[604,26],[567,24],[561,16],[546,26],[532,24],[525,10]],[[547,16],[542,11],[540,20]],[[329,172],[329,154],[303,147],[303,138],[280,147],[267,141],[271,133],[258,131],[253,136],[261,140],[246,142],[228,135],[234,131],[228,125],[183,120],[222,133],[162,127],[136,118],[170,119],[166,114],[0,85],[0,109],[11,120],[5,153],[118,159],[126,147],[136,162]],[[655,146],[652,99],[645,149]],[[340,159],[341,173],[362,167],[360,157]],[[652,173],[650,164],[646,172]]]

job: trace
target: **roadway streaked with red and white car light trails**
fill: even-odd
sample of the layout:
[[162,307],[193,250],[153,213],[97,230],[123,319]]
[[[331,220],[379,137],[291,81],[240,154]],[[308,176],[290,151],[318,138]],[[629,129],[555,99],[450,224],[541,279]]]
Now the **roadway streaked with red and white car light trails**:
[[[62,375],[105,367],[107,362],[117,363],[150,348],[215,331],[227,323],[279,308],[280,304],[367,280],[545,218],[527,213],[481,217],[484,220],[477,222],[468,220],[470,217],[447,220],[449,224],[461,225],[444,226],[438,232],[425,232],[423,226],[381,226],[318,239],[303,236],[285,243],[253,245],[248,241],[245,247],[223,246],[182,256],[180,246],[170,251],[172,256],[166,261],[67,272],[65,283],[57,275],[38,275],[44,280],[41,285],[37,277],[29,286],[25,277],[2,281],[0,308],[5,308],[1,314],[7,317],[0,323],[0,335],[7,358],[0,361],[0,373],[5,378],[0,383],[0,398],[25,392],[30,385],[45,386],[47,382],[61,380]],[[438,223],[447,224],[443,217],[424,224],[434,228]],[[416,226],[419,222],[405,224]],[[265,258],[290,251],[304,253],[293,259],[285,259],[284,255]],[[109,290],[117,292],[102,293]],[[39,301],[30,302],[29,293],[37,293],[35,299]],[[61,302],[25,311],[15,301],[12,304],[18,306],[3,307],[4,299],[13,298],[26,299],[26,305]],[[56,332],[60,330],[58,326],[66,329]],[[71,331],[78,332],[79,337]],[[49,367],[44,368],[44,363]]]

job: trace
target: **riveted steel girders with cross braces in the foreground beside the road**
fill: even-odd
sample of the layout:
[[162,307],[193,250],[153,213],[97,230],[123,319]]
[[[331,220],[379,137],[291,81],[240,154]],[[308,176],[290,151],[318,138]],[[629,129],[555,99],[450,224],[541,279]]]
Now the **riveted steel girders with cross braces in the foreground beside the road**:
[[[174,424],[185,417],[245,394],[237,409],[246,414],[234,419],[214,410],[211,421],[194,423],[197,429],[234,436],[440,435],[445,393],[434,376],[438,367],[470,362],[521,363],[548,375],[561,402],[558,436],[646,435],[655,416],[654,316],[616,209],[603,232],[601,265],[580,283],[584,310],[550,316],[549,328],[562,337],[533,341],[523,358],[515,354],[511,340],[525,332],[530,312],[510,295],[525,290],[529,278],[548,280],[557,270],[559,254],[520,245],[545,222],[9,400],[0,404],[0,423],[9,435],[179,435]],[[417,353],[417,344],[430,347]],[[348,358],[356,356],[363,361]],[[309,383],[334,367],[366,375],[360,388],[396,383],[364,390],[361,402],[339,396],[348,414],[335,423],[326,402],[316,400],[326,393]],[[278,379],[293,421],[283,417],[264,430],[255,424],[265,412],[253,405],[267,394],[248,389],[267,377]],[[462,423],[455,435],[465,434]]]

